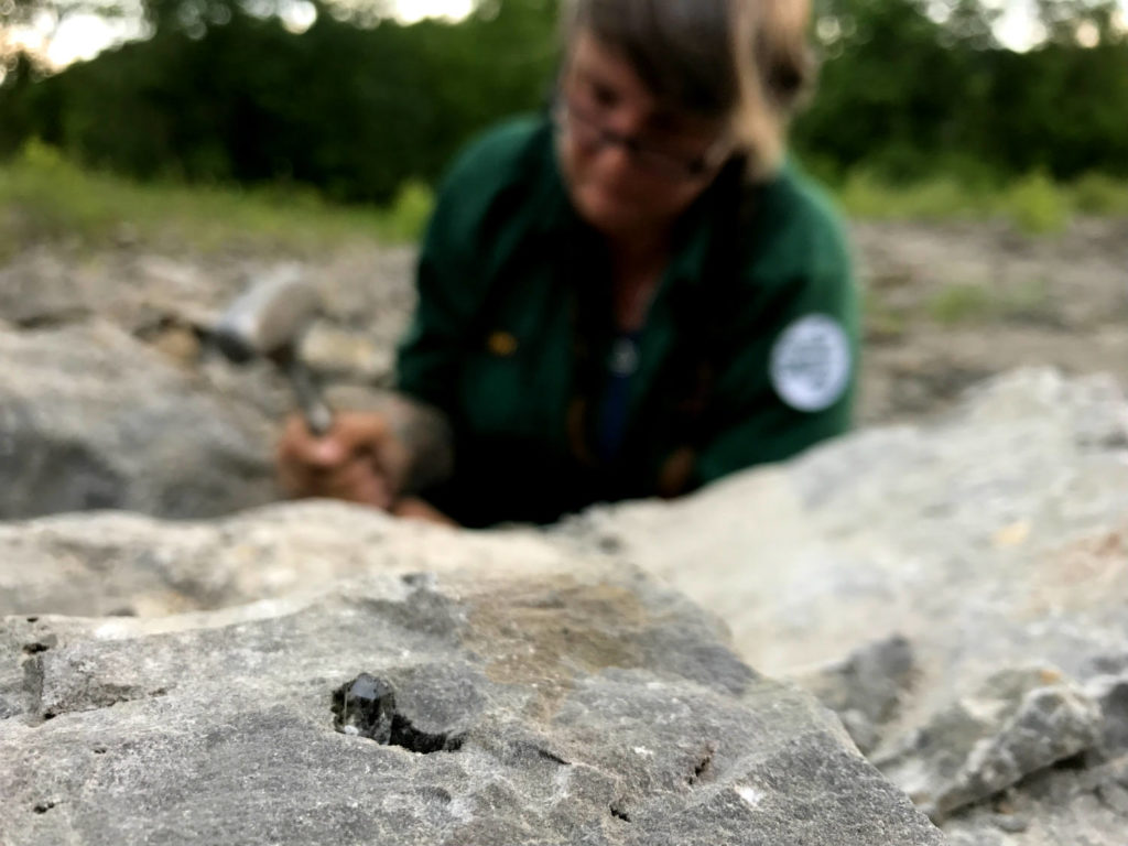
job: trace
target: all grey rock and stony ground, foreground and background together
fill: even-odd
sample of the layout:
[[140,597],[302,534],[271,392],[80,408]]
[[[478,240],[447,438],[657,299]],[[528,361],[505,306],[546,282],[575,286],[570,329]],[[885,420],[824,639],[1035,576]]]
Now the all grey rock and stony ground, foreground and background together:
[[[1123,846],[1128,221],[855,239],[861,431],[492,532],[271,504],[290,395],[202,338],[276,256],[18,252],[0,844]],[[305,263],[323,376],[411,265]]]

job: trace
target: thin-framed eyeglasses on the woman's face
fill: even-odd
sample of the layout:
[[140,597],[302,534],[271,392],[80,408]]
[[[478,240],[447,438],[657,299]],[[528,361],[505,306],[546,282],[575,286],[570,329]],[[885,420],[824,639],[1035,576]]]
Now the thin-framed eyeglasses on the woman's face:
[[600,120],[599,106],[584,106],[575,97],[559,95],[553,105],[553,122],[562,132],[570,132],[585,147],[622,147],[635,167],[671,182],[699,179],[716,170],[729,155],[724,138],[716,139],[705,152],[687,156],[659,143],[641,140],[609,129]]

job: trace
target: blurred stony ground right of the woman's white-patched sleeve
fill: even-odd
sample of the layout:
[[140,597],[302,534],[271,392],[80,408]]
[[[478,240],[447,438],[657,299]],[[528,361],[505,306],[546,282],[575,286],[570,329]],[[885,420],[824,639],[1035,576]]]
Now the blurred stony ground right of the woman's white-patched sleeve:
[[1128,220],[1030,238],[1004,223],[860,223],[861,421],[911,420],[1016,367],[1128,385]]

